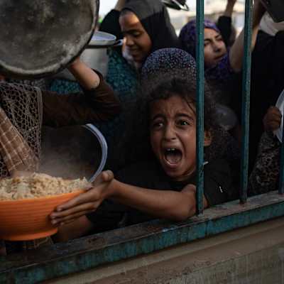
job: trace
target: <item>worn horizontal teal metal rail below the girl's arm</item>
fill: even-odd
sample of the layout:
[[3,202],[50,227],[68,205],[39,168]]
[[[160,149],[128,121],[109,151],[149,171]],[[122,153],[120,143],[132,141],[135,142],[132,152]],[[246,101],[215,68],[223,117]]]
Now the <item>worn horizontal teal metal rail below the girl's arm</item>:
[[281,216],[284,196],[277,191],[269,192],[251,197],[246,207],[238,200],[224,203],[207,209],[202,217],[179,224],[155,220],[0,257],[0,283],[39,283]]

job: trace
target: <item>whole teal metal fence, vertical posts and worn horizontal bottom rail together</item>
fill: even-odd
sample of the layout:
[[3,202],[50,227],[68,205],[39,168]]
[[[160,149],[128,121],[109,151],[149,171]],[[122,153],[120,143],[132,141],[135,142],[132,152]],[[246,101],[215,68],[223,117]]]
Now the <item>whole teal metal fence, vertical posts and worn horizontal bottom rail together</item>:
[[[252,0],[246,0],[243,112],[241,159],[241,203],[247,201],[249,165],[249,107],[251,73],[251,21]],[[203,213],[203,157],[204,157],[204,3],[197,0],[197,213]],[[283,131],[284,141],[284,131]],[[283,143],[284,144],[284,143]],[[284,146],[281,148],[281,171],[279,192],[284,193]],[[229,202],[207,209],[200,217],[187,222],[170,224],[153,221],[125,229],[109,231],[71,244],[60,244],[37,256],[23,255],[21,261],[0,258],[0,283],[33,284],[58,278],[71,273],[87,271],[102,264],[151,253],[170,246],[213,236],[232,229],[249,226],[268,219],[284,216],[284,197],[276,193],[253,197],[246,206]],[[125,232],[127,232],[125,236]],[[112,239],[109,235],[112,234]],[[109,239],[108,239],[109,238]],[[115,240],[115,241],[114,241]],[[26,260],[25,260],[26,258]]]

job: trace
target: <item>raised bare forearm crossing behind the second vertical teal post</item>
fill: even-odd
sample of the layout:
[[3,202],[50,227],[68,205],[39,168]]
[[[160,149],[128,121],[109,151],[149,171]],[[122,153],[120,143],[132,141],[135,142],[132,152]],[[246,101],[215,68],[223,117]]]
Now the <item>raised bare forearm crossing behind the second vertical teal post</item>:
[[[252,38],[251,38],[251,50],[253,50],[254,46],[256,45],[256,37],[258,34],[259,23],[261,22],[261,18],[265,13],[265,9],[261,4],[260,0],[256,0],[253,6],[253,25],[252,25]],[[243,58],[244,58],[244,30],[241,31],[238,38],[232,45],[230,53],[229,53],[229,60],[232,69],[234,72],[240,72],[243,65]]]

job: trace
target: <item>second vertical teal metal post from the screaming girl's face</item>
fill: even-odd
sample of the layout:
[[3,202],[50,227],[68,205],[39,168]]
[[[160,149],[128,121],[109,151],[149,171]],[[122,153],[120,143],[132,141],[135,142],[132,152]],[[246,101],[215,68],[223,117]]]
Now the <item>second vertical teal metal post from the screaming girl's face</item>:
[[252,33],[252,0],[246,0],[244,26],[244,60],[243,60],[243,97],[241,115],[241,203],[248,197],[249,178],[249,107],[251,94],[251,33]]

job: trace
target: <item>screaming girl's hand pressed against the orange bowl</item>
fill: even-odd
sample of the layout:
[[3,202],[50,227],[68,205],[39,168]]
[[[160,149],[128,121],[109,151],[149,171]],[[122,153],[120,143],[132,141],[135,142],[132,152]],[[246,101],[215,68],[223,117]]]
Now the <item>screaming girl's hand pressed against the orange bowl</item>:
[[96,211],[104,199],[111,196],[110,185],[113,180],[114,174],[110,170],[102,172],[93,182],[92,189],[56,207],[55,211],[50,214],[51,223],[53,225],[67,224]]

